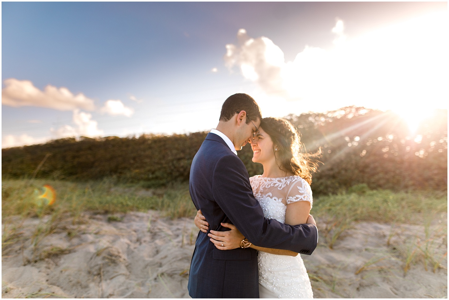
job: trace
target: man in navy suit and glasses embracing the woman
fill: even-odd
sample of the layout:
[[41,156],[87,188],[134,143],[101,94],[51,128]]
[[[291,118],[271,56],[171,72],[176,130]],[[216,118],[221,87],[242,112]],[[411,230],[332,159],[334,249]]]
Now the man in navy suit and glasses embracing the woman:
[[[264,218],[245,165],[237,157],[236,150],[251,142],[261,118],[251,96],[234,94],[226,99],[218,126],[207,135],[192,161],[190,196],[212,230],[228,230],[220,223],[232,223],[257,246],[310,255],[317,247],[317,228]],[[219,250],[207,233],[200,231],[188,288],[192,298],[259,298],[257,251]]]

